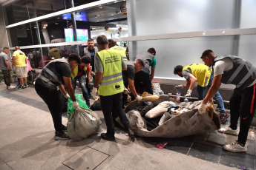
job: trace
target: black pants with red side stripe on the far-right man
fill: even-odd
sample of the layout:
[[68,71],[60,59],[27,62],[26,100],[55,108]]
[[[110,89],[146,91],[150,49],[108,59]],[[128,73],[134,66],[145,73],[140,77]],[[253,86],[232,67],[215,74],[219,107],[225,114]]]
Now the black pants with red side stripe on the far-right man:
[[238,142],[246,144],[249,128],[255,115],[256,84],[246,89],[234,89],[230,99],[230,127],[237,129],[237,121],[240,117],[240,132]]

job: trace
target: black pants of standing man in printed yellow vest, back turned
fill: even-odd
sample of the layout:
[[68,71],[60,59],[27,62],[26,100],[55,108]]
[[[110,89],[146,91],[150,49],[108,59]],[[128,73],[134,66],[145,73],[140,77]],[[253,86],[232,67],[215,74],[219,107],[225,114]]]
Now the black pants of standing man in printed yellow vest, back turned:
[[114,136],[113,118],[111,113],[119,116],[125,129],[131,128],[128,118],[122,109],[122,92],[116,95],[99,96],[100,105],[102,106],[102,112],[104,115],[105,123],[107,126],[107,135]]

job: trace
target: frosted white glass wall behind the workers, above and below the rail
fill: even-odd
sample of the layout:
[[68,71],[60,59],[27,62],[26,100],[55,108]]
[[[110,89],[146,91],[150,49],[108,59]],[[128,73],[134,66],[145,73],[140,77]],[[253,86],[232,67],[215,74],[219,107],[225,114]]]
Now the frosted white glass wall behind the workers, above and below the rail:
[[[130,41],[130,58],[154,47],[157,51],[155,76],[158,78],[178,78],[173,74],[174,67],[203,63],[200,56],[207,49],[216,55],[238,55],[256,64],[255,35],[225,35],[225,30],[256,27],[256,1],[159,0],[148,3],[138,0],[127,3],[129,36],[147,39],[155,35],[154,40]],[[223,34],[202,35],[203,31],[210,30],[220,30]],[[202,33],[197,34],[197,31]],[[192,32],[194,38],[178,34]],[[157,39],[158,34],[166,33],[176,33],[181,38]]]

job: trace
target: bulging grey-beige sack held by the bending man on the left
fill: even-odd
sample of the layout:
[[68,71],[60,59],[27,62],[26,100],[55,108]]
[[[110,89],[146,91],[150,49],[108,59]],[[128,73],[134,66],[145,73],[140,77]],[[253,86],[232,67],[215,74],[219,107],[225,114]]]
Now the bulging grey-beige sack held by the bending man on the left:
[[68,120],[68,135],[72,140],[82,140],[101,132],[101,123],[102,121],[95,112],[78,107]]

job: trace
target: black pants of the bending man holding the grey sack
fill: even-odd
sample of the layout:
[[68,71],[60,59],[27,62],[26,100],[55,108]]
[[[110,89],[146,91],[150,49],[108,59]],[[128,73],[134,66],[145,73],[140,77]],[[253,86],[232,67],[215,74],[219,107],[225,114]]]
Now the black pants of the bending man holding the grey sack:
[[62,104],[57,89],[48,89],[40,84],[35,84],[35,89],[50,110],[56,132],[62,131]]

